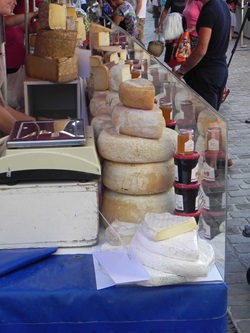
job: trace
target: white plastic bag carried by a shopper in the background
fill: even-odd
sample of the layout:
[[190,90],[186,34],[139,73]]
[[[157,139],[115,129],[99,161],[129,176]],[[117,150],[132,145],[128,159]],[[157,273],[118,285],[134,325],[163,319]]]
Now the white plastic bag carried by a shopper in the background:
[[187,28],[186,19],[180,13],[167,14],[163,25],[163,37],[165,40],[180,38]]

